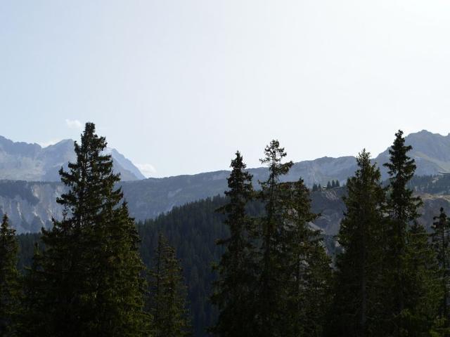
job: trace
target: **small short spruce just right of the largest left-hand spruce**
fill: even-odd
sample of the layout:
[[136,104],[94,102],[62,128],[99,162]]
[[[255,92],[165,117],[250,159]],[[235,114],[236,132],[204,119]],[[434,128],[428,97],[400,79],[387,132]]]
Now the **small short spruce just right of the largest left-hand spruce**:
[[186,286],[174,249],[164,235],[158,237],[153,269],[149,272],[149,310],[155,337],[190,335]]

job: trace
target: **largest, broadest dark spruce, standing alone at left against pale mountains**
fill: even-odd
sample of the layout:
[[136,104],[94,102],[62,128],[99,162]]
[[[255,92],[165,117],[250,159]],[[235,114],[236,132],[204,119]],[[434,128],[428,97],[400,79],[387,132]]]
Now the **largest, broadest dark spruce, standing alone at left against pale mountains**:
[[86,123],[77,161],[60,170],[68,192],[58,198],[63,220],[42,231],[46,329],[51,336],[142,336],[143,264],[138,236],[106,142]]

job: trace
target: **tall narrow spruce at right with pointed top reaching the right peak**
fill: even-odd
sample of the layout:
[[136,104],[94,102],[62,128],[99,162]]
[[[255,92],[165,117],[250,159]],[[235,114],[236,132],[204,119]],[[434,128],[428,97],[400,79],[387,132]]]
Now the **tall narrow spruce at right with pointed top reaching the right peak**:
[[[387,288],[391,289],[390,296],[385,303],[386,312],[389,312],[392,333],[401,336],[405,333],[404,310],[406,308],[407,285],[409,284],[406,270],[406,244],[409,225],[418,218],[418,207],[421,205],[420,197],[413,197],[413,191],[408,183],[413,178],[416,164],[408,156],[411,146],[405,145],[403,131],[395,134],[395,140],[389,150],[390,161],[387,167],[390,175],[389,193],[387,198],[387,258],[386,272]],[[390,308],[390,309],[389,309]]]

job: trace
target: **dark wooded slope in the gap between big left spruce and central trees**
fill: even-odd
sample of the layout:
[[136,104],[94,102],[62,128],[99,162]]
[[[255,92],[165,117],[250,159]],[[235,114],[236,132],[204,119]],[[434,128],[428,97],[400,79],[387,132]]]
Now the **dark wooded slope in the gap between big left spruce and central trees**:
[[[175,207],[154,220],[138,223],[141,256],[148,267],[153,265],[159,232],[165,234],[171,246],[176,247],[176,256],[181,260],[188,285],[188,308],[197,337],[205,336],[207,327],[216,322],[217,310],[208,298],[214,282],[211,265],[219,260],[224,251],[215,242],[229,236],[228,229],[222,223],[224,216],[216,212],[224,204],[226,199],[217,196]],[[250,210],[251,213],[259,211],[256,205]]]

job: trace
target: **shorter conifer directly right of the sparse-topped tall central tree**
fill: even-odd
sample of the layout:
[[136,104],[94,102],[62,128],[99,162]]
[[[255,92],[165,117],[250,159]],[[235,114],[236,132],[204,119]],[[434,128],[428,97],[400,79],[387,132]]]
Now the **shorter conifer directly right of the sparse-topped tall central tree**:
[[278,275],[281,306],[278,336],[321,336],[330,296],[330,258],[321,231],[310,227],[317,215],[311,212],[309,191],[302,179],[282,183],[286,190],[279,255],[284,262]]

